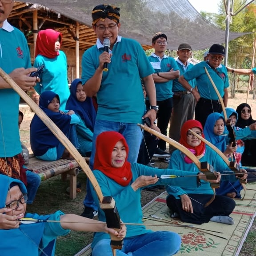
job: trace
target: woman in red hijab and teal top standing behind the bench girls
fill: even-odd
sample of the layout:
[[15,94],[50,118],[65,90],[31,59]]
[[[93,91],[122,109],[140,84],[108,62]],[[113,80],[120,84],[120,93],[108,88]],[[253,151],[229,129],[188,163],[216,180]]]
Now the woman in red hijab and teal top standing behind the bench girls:
[[36,59],[34,67],[44,65],[40,83],[34,87],[41,95],[52,91],[60,96],[60,109],[64,110],[70,95],[67,76],[67,57],[60,51],[62,34],[53,29],[41,30],[36,38]]

